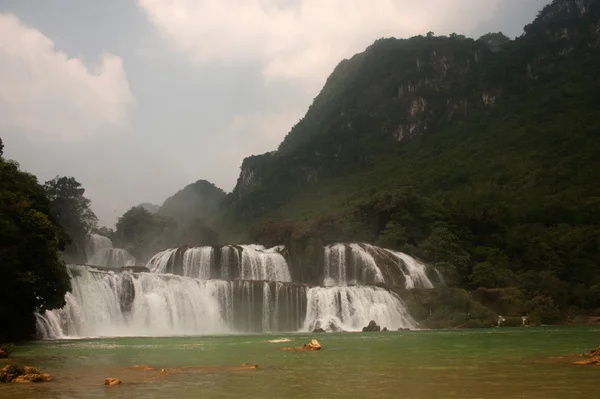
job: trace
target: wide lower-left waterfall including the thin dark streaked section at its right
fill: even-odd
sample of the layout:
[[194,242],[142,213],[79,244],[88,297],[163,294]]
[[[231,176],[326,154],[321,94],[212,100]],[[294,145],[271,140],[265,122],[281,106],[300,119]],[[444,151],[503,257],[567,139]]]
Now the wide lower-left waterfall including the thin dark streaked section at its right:
[[297,331],[306,314],[307,287],[294,283],[68,271],[66,305],[36,314],[41,338]]

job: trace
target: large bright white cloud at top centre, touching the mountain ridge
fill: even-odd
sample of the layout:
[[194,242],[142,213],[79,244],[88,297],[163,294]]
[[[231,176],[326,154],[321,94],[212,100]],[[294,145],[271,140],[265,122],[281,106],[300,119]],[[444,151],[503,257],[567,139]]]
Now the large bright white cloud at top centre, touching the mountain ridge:
[[380,37],[469,31],[500,0],[138,0],[197,63],[258,62],[267,79],[320,87]]

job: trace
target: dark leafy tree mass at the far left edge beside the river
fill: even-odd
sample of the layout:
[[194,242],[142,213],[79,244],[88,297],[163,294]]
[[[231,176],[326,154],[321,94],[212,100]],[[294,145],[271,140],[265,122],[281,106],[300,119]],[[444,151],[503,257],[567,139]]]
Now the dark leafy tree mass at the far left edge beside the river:
[[64,306],[66,236],[35,176],[0,157],[0,342],[31,338],[35,311]]

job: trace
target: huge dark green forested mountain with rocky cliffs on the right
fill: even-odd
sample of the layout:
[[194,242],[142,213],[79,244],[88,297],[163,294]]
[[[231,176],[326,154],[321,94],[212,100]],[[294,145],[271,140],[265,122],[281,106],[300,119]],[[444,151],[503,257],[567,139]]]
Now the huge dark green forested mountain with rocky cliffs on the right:
[[213,226],[288,245],[306,280],[360,240],[550,314],[600,307],[598,104],[600,0],[554,0],[512,41],[380,39],[244,160]]

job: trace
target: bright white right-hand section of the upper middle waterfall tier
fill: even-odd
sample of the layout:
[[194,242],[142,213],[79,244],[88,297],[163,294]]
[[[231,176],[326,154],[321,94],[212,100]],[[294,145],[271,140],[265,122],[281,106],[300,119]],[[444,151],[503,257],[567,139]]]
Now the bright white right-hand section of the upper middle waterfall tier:
[[241,280],[292,281],[288,264],[280,253],[283,247],[241,245],[241,248]]

